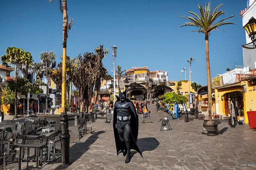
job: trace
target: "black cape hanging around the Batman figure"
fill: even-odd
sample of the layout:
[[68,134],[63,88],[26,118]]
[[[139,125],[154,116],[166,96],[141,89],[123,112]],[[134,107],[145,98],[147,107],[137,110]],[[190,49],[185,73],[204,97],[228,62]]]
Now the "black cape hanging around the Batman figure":
[[[116,96],[117,97],[117,96]],[[131,108],[132,110],[132,113],[131,114],[131,136],[130,136],[130,141],[131,141],[131,149],[134,149],[136,150],[140,155],[141,157],[142,156],[142,153],[137,145],[137,138],[138,138],[138,131],[139,131],[139,117],[136,113],[136,108],[134,106],[134,104],[132,103],[132,101],[130,101],[129,99],[125,99],[126,102],[131,102],[131,106],[133,108]],[[117,121],[117,109],[116,109],[116,104],[117,102],[119,103],[120,102],[120,99],[119,97],[117,97],[117,101],[115,102],[115,105],[114,105],[114,114],[113,114],[113,128],[114,128],[114,136],[115,136],[115,143],[116,143],[116,153],[117,153],[117,156],[119,154],[120,151],[124,150],[124,148],[121,148],[121,146],[125,146],[125,143],[120,144],[120,140],[119,140],[119,134],[118,134],[118,131],[117,131],[117,128],[116,128],[116,121]],[[124,142],[124,141],[123,141]]]

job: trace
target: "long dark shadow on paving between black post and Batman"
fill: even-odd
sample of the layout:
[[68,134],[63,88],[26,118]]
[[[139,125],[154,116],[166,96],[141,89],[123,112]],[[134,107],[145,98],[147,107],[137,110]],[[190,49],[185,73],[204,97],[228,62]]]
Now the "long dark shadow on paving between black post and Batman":
[[[93,144],[99,137],[98,135],[105,133],[105,131],[98,131],[93,133],[85,142],[77,142],[69,149],[69,165],[79,159],[86,151],[90,149],[90,145]],[[55,170],[67,169],[68,166],[58,166]]]

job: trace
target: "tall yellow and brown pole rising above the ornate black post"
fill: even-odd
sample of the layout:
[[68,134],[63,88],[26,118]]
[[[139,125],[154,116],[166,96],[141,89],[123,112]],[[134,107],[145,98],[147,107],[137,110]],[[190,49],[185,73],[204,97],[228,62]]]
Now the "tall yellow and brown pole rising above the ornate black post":
[[62,48],[62,85],[61,85],[61,110],[65,112],[66,102],[66,49],[67,49],[67,1],[62,0],[63,9],[63,48]]

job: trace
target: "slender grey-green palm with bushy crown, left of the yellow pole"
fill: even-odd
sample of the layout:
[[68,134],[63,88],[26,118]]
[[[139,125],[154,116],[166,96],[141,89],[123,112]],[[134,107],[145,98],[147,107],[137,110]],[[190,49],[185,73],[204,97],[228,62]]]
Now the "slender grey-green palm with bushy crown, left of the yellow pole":
[[46,90],[46,112],[48,111],[48,95],[49,95],[49,86],[50,86],[50,81],[51,81],[51,73],[53,68],[56,67],[56,54],[54,54],[53,51],[46,51],[46,52],[41,52],[40,53],[40,59],[42,60],[42,64],[43,64],[43,70],[44,70],[44,75],[46,77],[46,81],[47,81],[47,90]]

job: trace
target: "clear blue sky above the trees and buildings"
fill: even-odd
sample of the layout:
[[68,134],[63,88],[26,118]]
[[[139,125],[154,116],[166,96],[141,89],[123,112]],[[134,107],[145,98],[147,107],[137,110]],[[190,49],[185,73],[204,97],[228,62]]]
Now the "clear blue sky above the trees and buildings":
[[[91,52],[99,44],[109,48],[116,44],[116,65],[123,69],[132,66],[148,66],[149,70],[168,71],[169,80],[180,80],[183,67],[193,57],[192,81],[207,84],[204,35],[190,33],[192,27],[183,27],[186,21],[178,15],[188,16],[188,11],[199,13],[198,3],[205,6],[206,0],[68,0],[68,17],[73,18],[73,27],[67,40],[67,55],[77,56]],[[209,37],[211,76],[222,74],[235,63],[243,64],[242,44],[245,31],[242,28],[240,10],[246,8],[246,0],[214,0],[212,8],[225,3],[221,8],[229,21],[236,25],[223,26]],[[16,46],[31,52],[39,61],[42,51],[54,51],[57,63],[62,55],[62,13],[59,1],[53,0],[1,0],[0,1],[0,55],[8,46]],[[111,54],[103,60],[109,72],[112,68]],[[182,79],[185,79],[184,73]],[[189,71],[187,71],[189,79]]]

